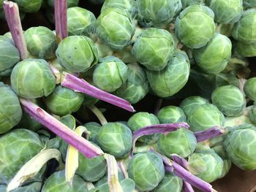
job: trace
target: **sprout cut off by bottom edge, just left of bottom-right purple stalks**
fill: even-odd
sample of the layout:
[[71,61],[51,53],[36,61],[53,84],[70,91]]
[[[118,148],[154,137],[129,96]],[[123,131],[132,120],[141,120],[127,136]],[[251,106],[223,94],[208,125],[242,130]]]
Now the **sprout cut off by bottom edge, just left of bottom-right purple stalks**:
[[182,186],[183,183],[180,177],[172,173],[167,173],[159,185],[157,185],[157,188],[154,188],[152,192],[181,192]]

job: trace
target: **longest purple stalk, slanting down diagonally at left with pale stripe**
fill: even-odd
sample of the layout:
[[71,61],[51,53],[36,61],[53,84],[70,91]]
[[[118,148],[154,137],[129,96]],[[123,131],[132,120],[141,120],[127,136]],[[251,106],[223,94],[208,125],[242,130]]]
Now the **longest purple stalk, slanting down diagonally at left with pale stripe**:
[[42,108],[38,107],[29,99],[20,98],[20,103],[23,105],[23,110],[29,113],[32,118],[37,120],[50,131],[53,131],[54,134],[61,137],[61,139],[69,143],[69,145],[77,148],[80,153],[83,153],[87,158],[93,158],[104,154],[101,149],[92,145],[91,142],[87,141],[83,137],[79,137],[74,131],[56,118],[53,118],[53,116],[49,115],[45,110],[42,110]]

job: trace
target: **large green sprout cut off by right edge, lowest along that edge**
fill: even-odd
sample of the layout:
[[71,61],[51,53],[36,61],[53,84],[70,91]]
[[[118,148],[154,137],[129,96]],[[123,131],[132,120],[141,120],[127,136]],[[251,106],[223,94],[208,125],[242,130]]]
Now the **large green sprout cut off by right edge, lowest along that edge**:
[[232,163],[240,169],[256,169],[255,126],[244,124],[233,128],[225,137],[223,146]]

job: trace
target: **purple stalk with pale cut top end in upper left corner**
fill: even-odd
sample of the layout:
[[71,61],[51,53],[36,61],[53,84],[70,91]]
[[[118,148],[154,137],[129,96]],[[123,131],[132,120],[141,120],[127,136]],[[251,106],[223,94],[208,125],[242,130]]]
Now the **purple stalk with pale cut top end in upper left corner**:
[[4,1],[4,14],[7,20],[13,42],[20,53],[20,60],[28,57],[29,52],[26,47],[25,37],[20,22],[20,14],[18,5],[12,1]]

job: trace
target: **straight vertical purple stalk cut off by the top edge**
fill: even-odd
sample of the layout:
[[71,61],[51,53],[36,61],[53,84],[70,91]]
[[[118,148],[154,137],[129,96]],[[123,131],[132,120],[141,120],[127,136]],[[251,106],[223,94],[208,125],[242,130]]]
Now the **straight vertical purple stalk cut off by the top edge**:
[[67,37],[67,0],[54,0],[55,30],[57,42]]

